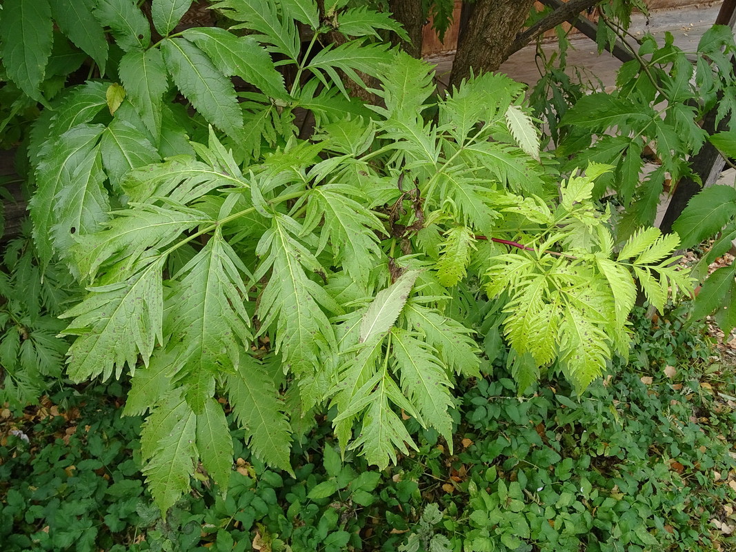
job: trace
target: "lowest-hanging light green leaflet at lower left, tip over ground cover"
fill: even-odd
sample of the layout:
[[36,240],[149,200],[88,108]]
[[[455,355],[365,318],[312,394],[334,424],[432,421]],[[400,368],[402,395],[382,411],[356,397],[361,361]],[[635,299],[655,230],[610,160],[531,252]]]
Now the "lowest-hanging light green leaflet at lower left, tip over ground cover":
[[189,490],[197,459],[197,416],[177,393],[160,404],[141,431],[146,484],[161,512]]

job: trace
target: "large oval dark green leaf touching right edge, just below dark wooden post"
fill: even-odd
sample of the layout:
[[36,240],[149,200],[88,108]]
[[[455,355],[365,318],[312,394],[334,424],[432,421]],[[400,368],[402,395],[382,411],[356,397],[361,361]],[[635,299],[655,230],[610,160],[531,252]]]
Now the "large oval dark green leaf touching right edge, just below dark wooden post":
[[682,247],[693,247],[721,231],[736,216],[736,189],[713,185],[696,194],[672,225]]

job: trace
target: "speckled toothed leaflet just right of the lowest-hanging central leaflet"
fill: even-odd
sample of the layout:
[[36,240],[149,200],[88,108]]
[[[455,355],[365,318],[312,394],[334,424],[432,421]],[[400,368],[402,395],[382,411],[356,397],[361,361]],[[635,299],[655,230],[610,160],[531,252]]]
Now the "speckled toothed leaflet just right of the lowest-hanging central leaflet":
[[393,353],[401,375],[401,388],[417,406],[425,425],[435,428],[445,438],[450,454],[453,451],[453,408],[447,371],[436,355],[410,333],[392,329]]

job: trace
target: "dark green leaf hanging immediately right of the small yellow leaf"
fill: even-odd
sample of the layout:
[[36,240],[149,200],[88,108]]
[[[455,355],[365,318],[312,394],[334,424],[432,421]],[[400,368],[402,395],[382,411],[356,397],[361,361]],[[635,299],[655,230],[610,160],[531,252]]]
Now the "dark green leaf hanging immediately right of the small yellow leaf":
[[132,50],[120,60],[118,74],[127,99],[138,111],[154,138],[161,132],[162,97],[169,89],[169,77],[158,48]]

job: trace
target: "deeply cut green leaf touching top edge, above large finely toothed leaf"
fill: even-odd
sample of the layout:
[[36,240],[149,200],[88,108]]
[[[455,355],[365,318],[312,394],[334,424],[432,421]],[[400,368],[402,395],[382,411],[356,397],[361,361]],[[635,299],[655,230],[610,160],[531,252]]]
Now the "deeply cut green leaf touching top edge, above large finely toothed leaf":
[[244,21],[242,26],[255,31],[256,39],[296,61],[301,49],[299,30],[291,19],[280,17],[277,5],[268,0],[221,0],[212,7],[235,21]]

